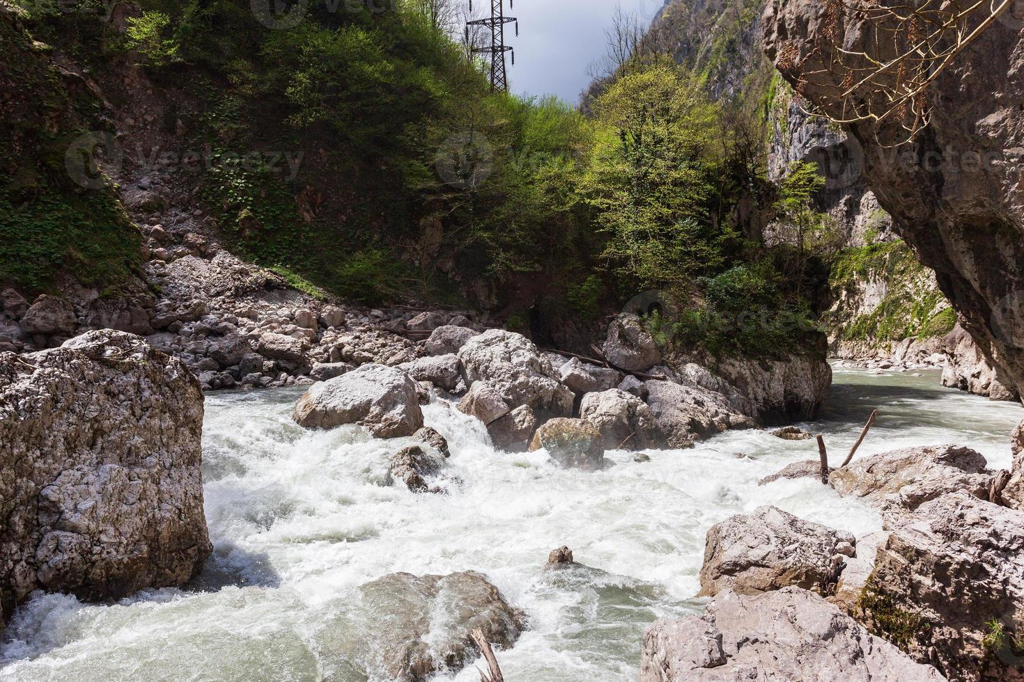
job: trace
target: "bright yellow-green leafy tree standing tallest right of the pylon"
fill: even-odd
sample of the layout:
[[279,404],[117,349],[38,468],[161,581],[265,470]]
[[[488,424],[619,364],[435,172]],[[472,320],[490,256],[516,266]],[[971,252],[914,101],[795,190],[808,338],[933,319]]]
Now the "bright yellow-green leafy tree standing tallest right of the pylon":
[[660,63],[620,78],[594,108],[584,191],[608,235],[603,258],[640,287],[688,288],[721,267],[734,237],[711,221],[711,103],[676,66]]

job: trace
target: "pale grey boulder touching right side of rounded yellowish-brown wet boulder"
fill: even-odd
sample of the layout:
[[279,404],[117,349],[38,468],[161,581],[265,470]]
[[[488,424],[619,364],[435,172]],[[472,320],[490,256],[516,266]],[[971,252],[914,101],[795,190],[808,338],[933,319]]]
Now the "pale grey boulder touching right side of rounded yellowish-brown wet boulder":
[[663,445],[650,408],[625,391],[587,394],[580,403],[580,418],[597,427],[605,450],[645,450]]

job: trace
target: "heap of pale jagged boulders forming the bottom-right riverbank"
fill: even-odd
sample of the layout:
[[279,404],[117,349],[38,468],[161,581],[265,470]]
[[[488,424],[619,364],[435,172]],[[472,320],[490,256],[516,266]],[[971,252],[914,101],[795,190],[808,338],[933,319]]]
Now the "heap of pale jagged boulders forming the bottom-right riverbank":
[[717,525],[700,573],[715,599],[650,628],[640,679],[1024,679],[1024,500],[996,483],[1024,473],[1016,439],[1009,474],[953,446],[835,470],[840,495],[883,511],[880,534],[774,507]]

